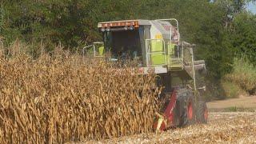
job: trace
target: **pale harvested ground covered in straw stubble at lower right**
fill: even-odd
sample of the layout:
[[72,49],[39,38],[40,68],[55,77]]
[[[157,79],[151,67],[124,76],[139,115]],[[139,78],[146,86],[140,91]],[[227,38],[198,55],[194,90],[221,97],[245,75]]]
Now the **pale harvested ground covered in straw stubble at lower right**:
[[212,112],[207,125],[86,143],[256,143],[255,112]]

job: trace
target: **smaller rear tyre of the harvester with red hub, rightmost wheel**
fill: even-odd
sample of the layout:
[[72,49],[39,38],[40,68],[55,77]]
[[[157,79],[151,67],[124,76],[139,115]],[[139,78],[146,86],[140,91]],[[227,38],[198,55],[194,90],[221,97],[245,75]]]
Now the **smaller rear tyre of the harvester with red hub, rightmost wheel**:
[[208,122],[208,108],[205,101],[198,102],[197,122],[198,123]]

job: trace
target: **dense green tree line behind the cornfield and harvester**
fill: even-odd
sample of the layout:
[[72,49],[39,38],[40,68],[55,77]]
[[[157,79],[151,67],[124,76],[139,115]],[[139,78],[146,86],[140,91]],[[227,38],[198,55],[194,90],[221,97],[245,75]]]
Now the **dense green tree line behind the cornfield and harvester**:
[[195,43],[209,77],[233,70],[234,57],[256,65],[256,16],[252,0],[1,0],[0,35],[5,45],[59,42],[74,48],[101,40],[97,23],[120,19],[177,18],[182,39]]

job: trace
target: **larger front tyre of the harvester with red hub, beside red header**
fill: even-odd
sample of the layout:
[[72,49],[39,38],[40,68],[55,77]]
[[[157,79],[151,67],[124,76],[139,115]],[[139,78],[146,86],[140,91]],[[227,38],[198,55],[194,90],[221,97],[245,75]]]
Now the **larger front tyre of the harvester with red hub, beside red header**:
[[179,126],[192,125],[195,122],[195,102],[194,95],[191,90],[186,90],[185,93],[179,94],[179,101],[181,104],[181,119]]

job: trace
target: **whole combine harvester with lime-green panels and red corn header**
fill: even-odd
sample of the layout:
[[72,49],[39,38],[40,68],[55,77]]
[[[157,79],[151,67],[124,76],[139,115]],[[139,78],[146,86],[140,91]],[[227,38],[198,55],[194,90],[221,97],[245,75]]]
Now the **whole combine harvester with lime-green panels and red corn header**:
[[98,29],[103,42],[85,47],[93,47],[94,57],[110,54],[111,61],[122,62],[130,58],[142,74],[158,74],[156,82],[164,90],[161,113],[152,124],[156,131],[207,122],[206,102],[200,96],[206,87],[198,86],[205,61],[194,61],[195,45],[180,41],[176,19],[100,22]]

